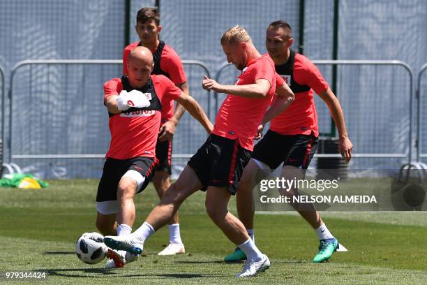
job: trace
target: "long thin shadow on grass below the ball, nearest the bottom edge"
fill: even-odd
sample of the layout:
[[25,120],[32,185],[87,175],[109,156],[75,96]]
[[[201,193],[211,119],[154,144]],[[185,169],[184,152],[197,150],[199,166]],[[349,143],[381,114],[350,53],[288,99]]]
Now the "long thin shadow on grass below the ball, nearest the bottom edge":
[[[144,277],[144,278],[211,278],[227,277],[216,274],[190,274],[190,273],[165,273],[165,274],[122,274],[123,270],[111,270],[107,268],[58,268],[58,269],[38,269],[35,271],[47,272],[48,276],[70,277],[70,278],[98,278],[98,277]],[[80,273],[80,274],[78,274]],[[91,275],[86,275],[91,274]]]

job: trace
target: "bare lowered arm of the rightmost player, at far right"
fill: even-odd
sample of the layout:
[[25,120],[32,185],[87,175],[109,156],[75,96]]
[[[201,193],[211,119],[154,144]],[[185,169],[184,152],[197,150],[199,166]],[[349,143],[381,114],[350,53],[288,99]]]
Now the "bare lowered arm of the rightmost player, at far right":
[[352,159],[352,142],[348,138],[347,130],[345,129],[345,121],[343,109],[341,108],[340,101],[336,98],[334,92],[328,87],[324,92],[320,92],[320,98],[327,103],[329,112],[331,112],[332,119],[338,129],[338,135],[340,136],[339,151],[346,162]]

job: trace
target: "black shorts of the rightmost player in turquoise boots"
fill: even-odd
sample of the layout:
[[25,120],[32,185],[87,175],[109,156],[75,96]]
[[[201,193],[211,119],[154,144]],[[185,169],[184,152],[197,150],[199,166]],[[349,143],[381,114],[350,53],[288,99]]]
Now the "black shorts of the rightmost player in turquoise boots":
[[280,135],[267,131],[264,138],[255,145],[253,159],[261,161],[271,169],[296,166],[307,169],[317,149],[318,139],[314,135]]

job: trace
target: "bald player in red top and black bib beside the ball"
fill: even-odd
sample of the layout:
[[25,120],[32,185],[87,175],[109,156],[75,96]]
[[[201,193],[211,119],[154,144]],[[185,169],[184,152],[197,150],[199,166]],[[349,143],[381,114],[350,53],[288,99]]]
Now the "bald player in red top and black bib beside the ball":
[[[135,221],[133,197],[147,187],[155,165],[161,102],[178,101],[210,134],[213,126],[200,105],[163,75],[151,75],[153,56],[147,47],[129,54],[128,75],[104,85],[110,115],[111,143],[96,195],[96,226],[104,235],[128,235]],[[135,260],[126,251],[110,251],[107,268]]]

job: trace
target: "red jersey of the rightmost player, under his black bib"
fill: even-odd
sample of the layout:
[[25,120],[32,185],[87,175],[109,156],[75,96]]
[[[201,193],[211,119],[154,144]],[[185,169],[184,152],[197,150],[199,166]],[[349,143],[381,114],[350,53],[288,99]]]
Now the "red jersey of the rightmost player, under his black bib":
[[306,85],[308,91],[294,92],[294,102],[271,120],[271,131],[282,135],[310,135],[313,133],[316,137],[319,136],[313,90],[320,94],[329,87],[328,83],[324,80],[319,68],[302,54],[295,53],[293,74],[281,74],[281,66],[275,66],[276,72],[285,79],[291,89],[292,82],[294,82],[294,85]]

